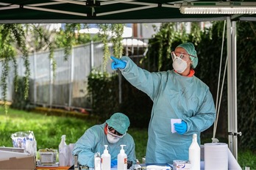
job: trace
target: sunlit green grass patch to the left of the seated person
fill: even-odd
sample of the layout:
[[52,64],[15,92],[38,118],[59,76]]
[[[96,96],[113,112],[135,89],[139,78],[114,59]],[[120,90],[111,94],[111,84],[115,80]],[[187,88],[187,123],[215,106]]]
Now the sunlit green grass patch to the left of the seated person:
[[[0,109],[3,110],[3,108]],[[47,116],[46,114],[18,111],[13,108],[10,108],[10,113],[7,115],[0,114],[0,119],[0,134],[3,136],[0,141],[1,146],[13,147],[10,138],[12,133],[32,130],[37,140],[38,149],[58,149],[61,136],[64,134],[67,144],[75,143],[88,127],[96,123],[96,119]]]

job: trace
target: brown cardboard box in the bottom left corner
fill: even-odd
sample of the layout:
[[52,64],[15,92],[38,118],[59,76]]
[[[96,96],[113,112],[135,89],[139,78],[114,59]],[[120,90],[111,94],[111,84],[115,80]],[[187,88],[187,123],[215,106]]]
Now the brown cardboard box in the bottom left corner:
[[35,169],[35,156],[0,160],[0,169]]

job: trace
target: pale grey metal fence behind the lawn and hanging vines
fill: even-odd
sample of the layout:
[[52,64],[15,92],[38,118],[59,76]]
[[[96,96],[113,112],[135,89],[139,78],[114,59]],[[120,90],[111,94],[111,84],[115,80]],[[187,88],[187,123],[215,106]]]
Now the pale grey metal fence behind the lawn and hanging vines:
[[[148,40],[124,39],[124,55],[130,57],[143,57]],[[110,53],[113,53],[113,45],[110,43]],[[49,51],[32,53],[29,55],[30,83],[29,100],[35,106],[57,108],[91,108],[88,95],[88,75],[91,70],[104,70],[103,44],[102,42],[90,42],[72,48],[68,60],[64,59],[64,49],[54,51],[54,59],[57,69],[54,73],[51,69]],[[24,76],[24,60],[18,57],[18,75]],[[0,63],[1,65],[1,63]],[[1,65],[2,66],[2,65]],[[107,62],[106,71],[112,73],[110,60]],[[1,74],[2,70],[0,70]],[[10,62],[10,72],[7,79],[7,100],[13,101],[13,63]],[[2,98],[2,89],[0,89]]]

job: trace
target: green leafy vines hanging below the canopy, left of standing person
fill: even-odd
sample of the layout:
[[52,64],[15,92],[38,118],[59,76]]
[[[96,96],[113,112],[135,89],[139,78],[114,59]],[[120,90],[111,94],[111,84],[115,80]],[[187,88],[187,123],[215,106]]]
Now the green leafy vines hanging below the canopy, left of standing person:
[[[64,59],[67,60],[71,53],[72,45],[77,45],[79,43],[85,42],[83,36],[79,36],[78,30],[86,27],[86,24],[80,23],[67,23],[65,24],[65,30],[63,32],[50,32],[45,29],[40,24],[1,24],[0,25],[0,62],[2,63],[2,73],[1,73],[1,84],[2,87],[2,97],[4,100],[5,112],[7,113],[7,77],[10,72],[10,62],[13,62],[14,68],[14,86],[15,92],[18,91],[18,64],[16,61],[16,56],[21,55],[24,59],[24,99],[29,97],[29,52],[49,50],[49,59],[51,61],[51,69],[55,75],[55,70],[57,68],[56,61],[54,59],[54,49],[60,48],[61,45],[65,48]],[[114,47],[114,55],[121,56],[123,47],[121,45],[122,37],[124,31],[123,24],[99,24],[101,32],[99,32],[99,37],[102,38],[104,44],[104,69],[107,65],[107,60],[110,57],[110,49],[108,42],[111,40]],[[109,40],[108,34],[112,32],[113,37]],[[62,34],[62,35],[61,35]],[[29,37],[29,38],[28,38]],[[55,38],[54,38],[55,37]],[[55,42],[57,38],[59,40],[59,45]],[[77,38],[79,37],[79,39]],[[88,40],[88,38],[86,38]],[[96,38],[97,39],[97,38]],[[30,46],[29,46],[30,40]],[[63,41],[60,45],[60,41]]]

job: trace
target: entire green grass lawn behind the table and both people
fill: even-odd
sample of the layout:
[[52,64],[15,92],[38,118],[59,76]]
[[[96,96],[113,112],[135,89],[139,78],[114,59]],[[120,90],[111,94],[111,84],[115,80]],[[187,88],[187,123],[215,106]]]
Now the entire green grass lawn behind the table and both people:
[[[9,108],[8,113],[4,114],[4,108],[0,107],[0,146],[13,147],[12,133],[18,131],[32,130],[35,134],[38,149],[58,149],[61,136],[66,135],[66,143],[75,143],[85,130],[92,125],[100,124],[97,119],[89,117],[76,118],[69,116],[49,116],[33,112],[18,111]],[[146,153],[147,130],[133,128],[128,130],[135,140],[136,156],[141,161]],[[250,150],[241,151],[238,149],[238,163],[244,169],[256,169],[256,155]]]

